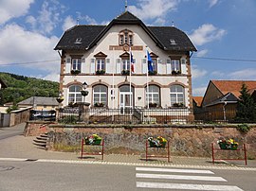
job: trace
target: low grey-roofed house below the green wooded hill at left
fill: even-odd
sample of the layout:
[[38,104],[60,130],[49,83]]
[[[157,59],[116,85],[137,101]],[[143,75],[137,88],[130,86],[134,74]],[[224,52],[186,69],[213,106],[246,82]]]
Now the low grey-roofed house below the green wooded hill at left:
[[32,107],[33,110],[37,111],[50,111],[59,107],[56,97],[46,96],[31,96],[23,101],[20,101],[17,103],[17,105],[19,108]]

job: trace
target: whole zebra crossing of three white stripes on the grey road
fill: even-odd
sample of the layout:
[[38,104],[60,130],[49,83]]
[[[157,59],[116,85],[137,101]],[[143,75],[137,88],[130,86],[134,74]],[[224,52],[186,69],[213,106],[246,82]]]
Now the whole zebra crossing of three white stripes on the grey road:
[[235,185],[226,185],[227,180],[214,176],[210,170],[136,167],[136,180],[137,188],[243,191]]

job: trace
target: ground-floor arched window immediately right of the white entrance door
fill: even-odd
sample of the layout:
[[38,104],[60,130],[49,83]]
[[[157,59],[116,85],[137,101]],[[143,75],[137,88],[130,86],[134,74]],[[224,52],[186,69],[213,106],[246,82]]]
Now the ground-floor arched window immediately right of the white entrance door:
[[150,107],[156,107],[160,105],[160,88],[156,85],[149,85],[149,92],[146,87],[146,103],[149,103]]

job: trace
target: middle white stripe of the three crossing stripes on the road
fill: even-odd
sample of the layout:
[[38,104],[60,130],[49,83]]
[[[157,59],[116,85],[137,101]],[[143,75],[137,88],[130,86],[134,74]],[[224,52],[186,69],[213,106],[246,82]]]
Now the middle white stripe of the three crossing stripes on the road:
[[136,174],[137,178],[149,178],[149,179],[172,179],[172,180],[191,180],[191,181],[210,181],[210,182],[227,182],[222,177],[210,177],[210,176],[184,176],[184,175],[168,175],[168,174]]

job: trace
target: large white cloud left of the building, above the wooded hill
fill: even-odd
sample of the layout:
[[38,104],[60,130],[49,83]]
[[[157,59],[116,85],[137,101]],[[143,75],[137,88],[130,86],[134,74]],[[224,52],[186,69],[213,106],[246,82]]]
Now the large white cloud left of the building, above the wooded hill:
[[51,61],[29,63],[24,67],[59,73],[60,61],[53,61],[60,60],[59,55],[53,50],[58,40],[55,36],[48,38],[40,33],[27,31],[16,24],[5,26],[0,30],[0,64]]

